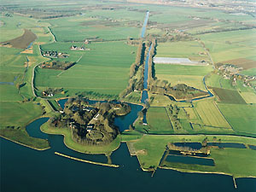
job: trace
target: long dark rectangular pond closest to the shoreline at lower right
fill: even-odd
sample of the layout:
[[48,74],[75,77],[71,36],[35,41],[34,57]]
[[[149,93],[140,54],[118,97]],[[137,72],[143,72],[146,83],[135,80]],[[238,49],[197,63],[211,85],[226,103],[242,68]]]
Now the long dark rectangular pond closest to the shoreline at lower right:
[[168,154],[166,157],[166,161],[184,163],[184,164],[196,164],[201,166],[214,166],[214,160],[212,159],[197,158],[192,156],[184,156],[184,155],[176,155],[176,154]]

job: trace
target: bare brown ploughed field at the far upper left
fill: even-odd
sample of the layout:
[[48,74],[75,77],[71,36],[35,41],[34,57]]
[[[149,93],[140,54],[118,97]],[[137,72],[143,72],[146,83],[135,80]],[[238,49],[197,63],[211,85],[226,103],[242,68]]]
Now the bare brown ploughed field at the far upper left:
[[30,30],[24,29],[24,33],[19,38],[14,38],[9,41],[1,42],[0,44],[12,46],[18,49],[26,49],[29,44],[31,44],[37,36]]

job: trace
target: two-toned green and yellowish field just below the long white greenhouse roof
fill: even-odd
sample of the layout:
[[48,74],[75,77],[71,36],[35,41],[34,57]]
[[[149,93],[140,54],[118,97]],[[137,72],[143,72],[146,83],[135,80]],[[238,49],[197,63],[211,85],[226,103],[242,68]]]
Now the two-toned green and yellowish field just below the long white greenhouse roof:
[[201,90],[206,90],[203,77],[212,71],[210,66],[155,64],[154,68],[157,79],[167,80],[172,85],[187,84]]

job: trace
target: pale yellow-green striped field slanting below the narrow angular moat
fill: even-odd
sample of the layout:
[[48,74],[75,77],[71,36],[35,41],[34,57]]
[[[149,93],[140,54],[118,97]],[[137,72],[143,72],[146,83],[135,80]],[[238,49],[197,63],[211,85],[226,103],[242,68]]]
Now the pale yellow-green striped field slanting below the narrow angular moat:
[[230,128],[230,125],[212,100],[208,99],[196,102],[195,110],[200,115],[204,125]]

